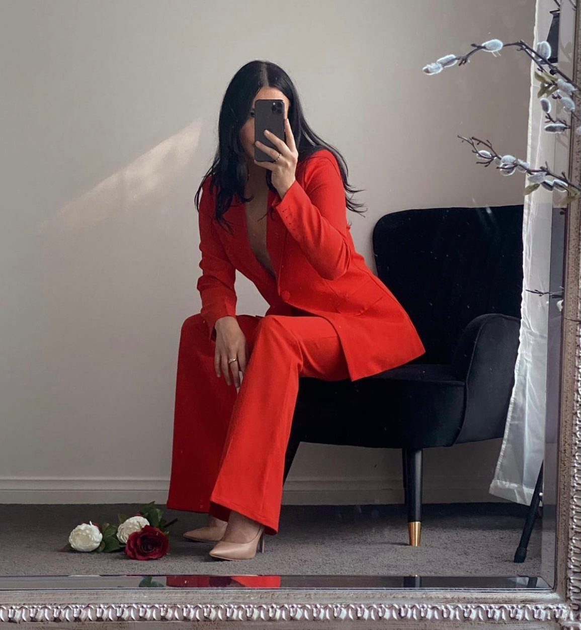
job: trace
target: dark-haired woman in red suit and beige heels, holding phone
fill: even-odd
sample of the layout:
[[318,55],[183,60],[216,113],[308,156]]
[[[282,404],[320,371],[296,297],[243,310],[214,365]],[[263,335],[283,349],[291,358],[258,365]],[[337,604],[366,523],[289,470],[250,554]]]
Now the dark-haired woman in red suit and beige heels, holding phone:
[[[285,141],[256,142],[273,162],[254,159],[253,106],[262,98],[285,104]],[[195,198],[202,309],[181,328],[167,501],[209,514],[184,536],[217,542],[213,558],[253,558],[263,534],[278,530],[299,376],[356,380],[425,352],[355,251],[345,211],[358,210],[341,161],[306,123],[279,66],[255,60],[236,72]],[[270,305],[265,316],[236,314],[236,270]]]

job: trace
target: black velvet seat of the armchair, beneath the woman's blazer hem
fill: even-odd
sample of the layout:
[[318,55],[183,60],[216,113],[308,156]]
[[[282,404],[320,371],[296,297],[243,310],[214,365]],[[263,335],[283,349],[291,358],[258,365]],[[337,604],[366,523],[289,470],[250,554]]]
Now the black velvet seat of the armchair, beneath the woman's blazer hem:
[[406,364],[358,381],[301,377],[292,432],[318,444],[450,446],[463,410],[464,382],[449,365]]

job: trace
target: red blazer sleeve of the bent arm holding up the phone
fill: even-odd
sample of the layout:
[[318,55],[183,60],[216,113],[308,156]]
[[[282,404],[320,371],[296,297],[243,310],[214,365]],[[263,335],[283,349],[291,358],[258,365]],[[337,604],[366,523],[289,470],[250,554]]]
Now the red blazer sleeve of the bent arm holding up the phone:
[[335,156],[311,158],[305,187],[294,181],[273,207],[309,263],[326,280],[345,273],[351,260],[345,188]]

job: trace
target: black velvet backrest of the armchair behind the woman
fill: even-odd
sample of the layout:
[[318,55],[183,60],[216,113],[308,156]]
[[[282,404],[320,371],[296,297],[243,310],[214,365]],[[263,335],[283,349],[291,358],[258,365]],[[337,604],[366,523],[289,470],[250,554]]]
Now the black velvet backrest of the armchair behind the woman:
[[478,315],[521,317],[522,215],[521,204],[401,210],[377,221],[377,275],[426,348],[411,363],[451,363]]

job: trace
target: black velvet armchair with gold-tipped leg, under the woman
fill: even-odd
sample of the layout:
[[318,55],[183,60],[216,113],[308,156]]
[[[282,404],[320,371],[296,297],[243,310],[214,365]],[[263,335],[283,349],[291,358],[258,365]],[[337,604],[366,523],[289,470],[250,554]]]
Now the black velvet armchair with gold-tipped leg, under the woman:
[[301,442],[401,449],[410,544],[420,544],[422,452],[503,436],[519,346],[522,205],[386,214],[378,277],[425,354],[359,381],[299,379],[284,479]]

